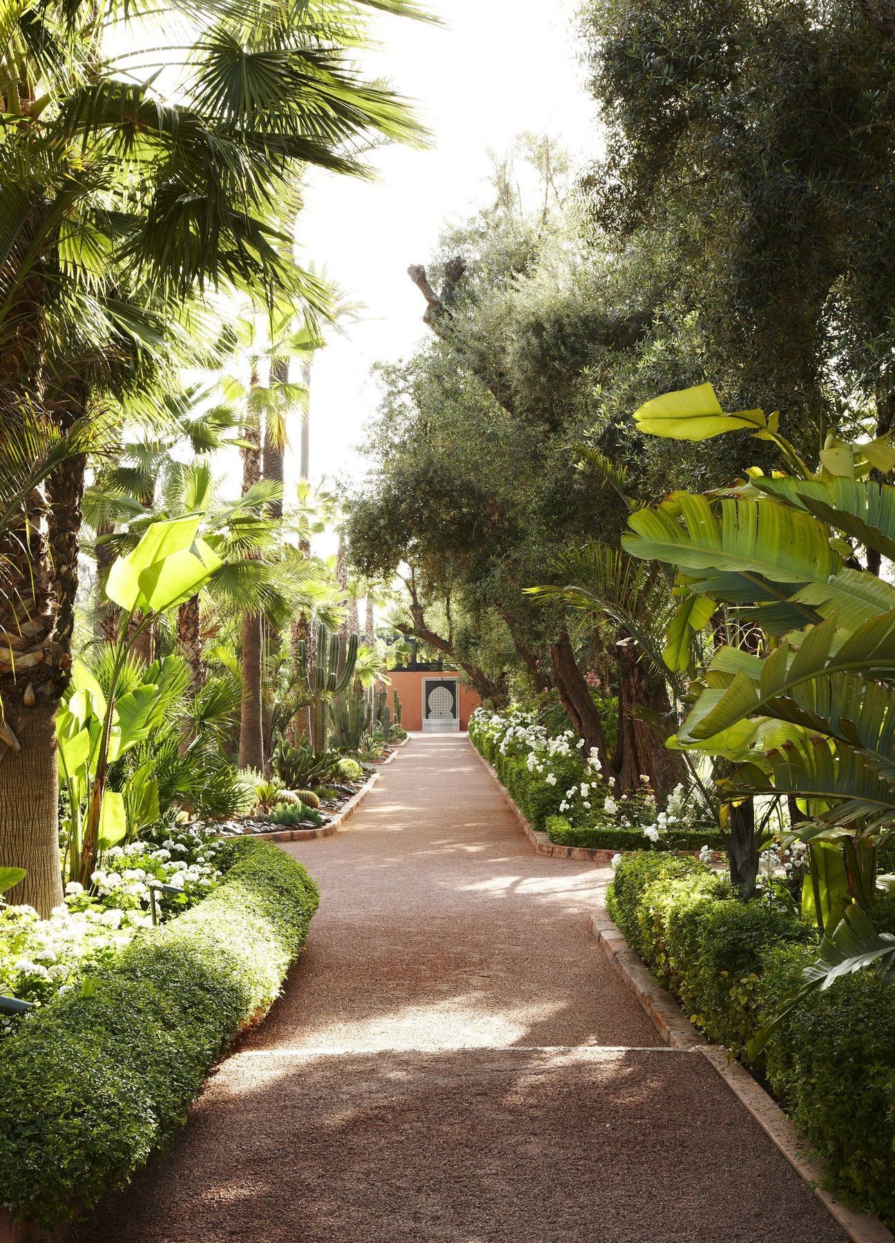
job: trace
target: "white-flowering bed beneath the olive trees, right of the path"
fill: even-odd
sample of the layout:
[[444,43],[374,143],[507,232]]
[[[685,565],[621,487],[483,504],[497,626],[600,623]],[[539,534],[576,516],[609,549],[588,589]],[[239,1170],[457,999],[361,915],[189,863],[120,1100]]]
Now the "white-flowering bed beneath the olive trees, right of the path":
[[636,850],[671,846],[720,848],[716,830],[699,823],[697,808],[679,786],[664,809],[644,776],[634,793],[617,793],[595,751],[572,730],[551,736],[532,712],[492,713],[476,709],[469,737],[487,759],[532,828],[559,845]]

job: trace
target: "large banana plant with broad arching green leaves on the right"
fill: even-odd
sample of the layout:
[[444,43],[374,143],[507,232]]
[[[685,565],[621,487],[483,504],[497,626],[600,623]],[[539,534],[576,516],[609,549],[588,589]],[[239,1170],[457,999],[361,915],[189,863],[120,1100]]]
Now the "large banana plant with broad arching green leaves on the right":
[[648,401],[635,420],[686,440],[748,433],[791,471],[675,492],[633,513],[622,542],[675,567],[681,610],[726,604],[763,631],[758,653],[714,653],[675,745],[737,762],[727,798],[798,802],[812,848],[804,906],[823,932],[844,900],[873,901],[876,844],[895,823],[895,585],[859,561],[895,554],[895,487],[870,477],[893,470],[895,449],[830,433],[812,471],[778,414],[726,414],[710,384]]

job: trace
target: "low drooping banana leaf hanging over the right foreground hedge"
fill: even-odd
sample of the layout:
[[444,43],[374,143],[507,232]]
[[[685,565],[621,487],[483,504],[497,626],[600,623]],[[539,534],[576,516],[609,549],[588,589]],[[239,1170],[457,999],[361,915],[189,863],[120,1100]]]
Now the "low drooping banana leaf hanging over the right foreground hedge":
[[878,932],[860,906],[851,906],[830,936],[820,942],[817,962],[804,967],[798,983],[781,1008],[747,1045],[750,1059],[758,1057],[774,1028],[814,992],[824,992],[843,976],[873,967],[884,983],[895,984],[895,936]]

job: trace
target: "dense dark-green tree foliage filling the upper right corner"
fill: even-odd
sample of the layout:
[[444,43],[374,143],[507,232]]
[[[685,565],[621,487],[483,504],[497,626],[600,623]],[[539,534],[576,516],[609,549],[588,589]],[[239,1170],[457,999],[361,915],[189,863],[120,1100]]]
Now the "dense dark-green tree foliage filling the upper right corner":
[[[894,165],[879,135],[895,116],[895,45],[871,16],[883,26],[884,12],[850,0],[583,5],[608,131],[585,191],[619,249],[649,247],[641,280],[656,290],[629,408],[711,374],[728,409],[786,403],[799,443],[847,404],[886,418]],[[738,469],[735,451],[714,445],[682,470],[665,460],[677,481],[692,464],[711,485]]]

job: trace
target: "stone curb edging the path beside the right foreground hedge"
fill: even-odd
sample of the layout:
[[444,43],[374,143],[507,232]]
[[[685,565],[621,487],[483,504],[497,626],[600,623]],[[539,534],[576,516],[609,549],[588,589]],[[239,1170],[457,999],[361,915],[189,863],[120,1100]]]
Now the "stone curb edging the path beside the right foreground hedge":
[[895,1236],[879,1218],[847,1208],[819,1186],[823,1176],[820,1166],[810,1160],[807,1146],[799,1140],[796,1127],[777,1101],[768,1096],[728,1049],[710,1044],[696,1030],[671,993],[659,987],[605,911],[590,916],[590,930],[607,958],[649,1014],[663,1040],[671,1048],[702,1054],[793,1170],[810,1185],[814,1195],[853,1243],[893,1243]]

